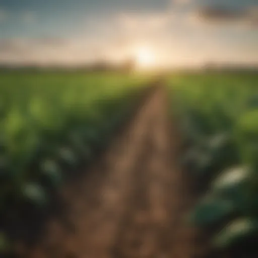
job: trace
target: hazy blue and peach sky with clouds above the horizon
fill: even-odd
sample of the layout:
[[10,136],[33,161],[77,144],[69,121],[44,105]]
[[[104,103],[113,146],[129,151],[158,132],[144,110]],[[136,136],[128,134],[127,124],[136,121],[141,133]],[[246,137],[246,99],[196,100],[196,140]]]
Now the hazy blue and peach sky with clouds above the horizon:
[[257,0],[0,0],[0,63],[258,63]]

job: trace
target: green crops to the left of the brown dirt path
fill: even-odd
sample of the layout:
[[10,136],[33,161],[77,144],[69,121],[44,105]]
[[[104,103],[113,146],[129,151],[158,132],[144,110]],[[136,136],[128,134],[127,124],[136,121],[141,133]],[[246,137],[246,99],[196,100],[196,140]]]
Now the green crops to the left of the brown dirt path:
[[26,205],[46,208],[128,118],[145,83],[140,75],[0,74],[0,230]]

